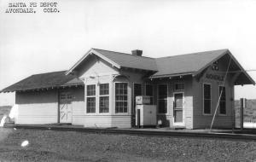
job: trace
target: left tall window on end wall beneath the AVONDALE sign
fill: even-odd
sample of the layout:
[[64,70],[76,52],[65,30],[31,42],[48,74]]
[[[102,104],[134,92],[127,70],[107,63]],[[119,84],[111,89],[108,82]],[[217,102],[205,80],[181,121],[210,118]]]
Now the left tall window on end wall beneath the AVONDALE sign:
[[204,114],[211,114],[211,84],[204,84]]

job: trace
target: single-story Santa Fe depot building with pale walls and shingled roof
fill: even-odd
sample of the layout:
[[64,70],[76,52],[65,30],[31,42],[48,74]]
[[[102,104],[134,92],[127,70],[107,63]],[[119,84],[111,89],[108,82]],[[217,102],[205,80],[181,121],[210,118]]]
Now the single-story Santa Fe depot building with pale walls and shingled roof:
[[[67,71],[35,74],[14,92],[15,124],[131,128],[136,96],[156,107],[156,124],[186,129],[232,128],[234,86],[255,84],[228,49],[161,58],[90,49]],[[217,108],[217,109],[216,109]]]

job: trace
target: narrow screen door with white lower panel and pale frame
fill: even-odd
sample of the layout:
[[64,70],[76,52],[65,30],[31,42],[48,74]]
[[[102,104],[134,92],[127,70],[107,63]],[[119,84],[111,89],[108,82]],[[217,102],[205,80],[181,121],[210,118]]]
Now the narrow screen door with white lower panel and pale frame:
[[173,118],[174,125],[184,125],[184,115],[183,115],[183,93],[174,93],[173,101]]

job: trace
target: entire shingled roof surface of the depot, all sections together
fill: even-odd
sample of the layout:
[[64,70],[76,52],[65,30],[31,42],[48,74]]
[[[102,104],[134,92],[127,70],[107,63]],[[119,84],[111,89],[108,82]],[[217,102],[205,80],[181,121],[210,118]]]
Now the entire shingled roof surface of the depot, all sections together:
[[[212,61],[216,61],[221,56],[230,53],[228,49],[212,50],[187,55],[175,55],[161,58],[149,58],[119,52],[113,52],[103,49],[92,49],[102,57],[108,58],[120,67],[130,67],[155,72],[151,78],[172,77],[175,75],[187,75],[200,72],[207,67]],[[84,59],[84,58],[82,58]],[[81,61],[78,62],[78,64]],[[238,64],[238,63],[237,63]],[[77,66],[77,65],[75,65]],[[84,84],[74,75],[66,75],[67,71],[49,72],[25,78],[20,82],[13,84],[0,92],[9,92],[16,90],[34,90],[42,88],[51,88],[58,86]],[[247,83],[254,84],[252,78],[245,72]]]

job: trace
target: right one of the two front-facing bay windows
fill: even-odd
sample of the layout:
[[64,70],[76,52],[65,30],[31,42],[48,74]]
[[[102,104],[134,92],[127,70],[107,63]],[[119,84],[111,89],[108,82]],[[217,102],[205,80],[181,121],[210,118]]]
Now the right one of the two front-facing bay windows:
[[100,84],[100,113],[108,113],[109,84]]

